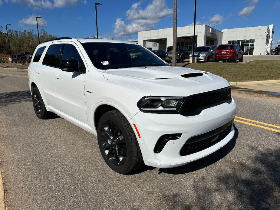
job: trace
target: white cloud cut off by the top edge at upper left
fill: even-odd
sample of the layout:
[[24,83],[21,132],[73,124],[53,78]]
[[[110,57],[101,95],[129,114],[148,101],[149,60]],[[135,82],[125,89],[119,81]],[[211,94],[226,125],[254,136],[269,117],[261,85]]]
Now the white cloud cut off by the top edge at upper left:
[[[8,2],[8,0],[5,0]],[[28,8],[42,9],[42,8],[62,8],[67,6],[75,6],[79,0],[10,0],[12,3],[18,3]],[[82,1],[87,3],[86,0]]]

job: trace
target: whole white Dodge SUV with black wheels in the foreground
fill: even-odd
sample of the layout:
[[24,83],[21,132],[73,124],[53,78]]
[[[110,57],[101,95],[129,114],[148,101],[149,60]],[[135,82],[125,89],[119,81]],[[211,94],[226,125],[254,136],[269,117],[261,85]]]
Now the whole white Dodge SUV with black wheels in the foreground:
[[222,77],[173,67],[125,41],[60,38],[39,44],[28,67],[38,118],[53,113],[97,136],[122,174],[203,158],[234,136],[236,104]]

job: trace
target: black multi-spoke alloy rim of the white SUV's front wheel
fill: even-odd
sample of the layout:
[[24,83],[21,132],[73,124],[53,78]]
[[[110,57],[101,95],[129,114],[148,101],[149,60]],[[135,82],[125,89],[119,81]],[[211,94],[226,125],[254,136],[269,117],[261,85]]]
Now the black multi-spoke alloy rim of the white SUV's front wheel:
[[124,164],[127,146],[123,132],[113,121],[106,121],[101,127],[101,143],[107,158],[116,166]]

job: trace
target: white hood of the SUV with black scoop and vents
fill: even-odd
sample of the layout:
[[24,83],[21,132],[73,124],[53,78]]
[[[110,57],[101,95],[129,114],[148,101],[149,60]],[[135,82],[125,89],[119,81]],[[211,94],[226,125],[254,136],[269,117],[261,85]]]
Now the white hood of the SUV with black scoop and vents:
[[151,96],[188,96],[229,86],[228,81],[214,74],[172,66],[109,69],[103,75]]

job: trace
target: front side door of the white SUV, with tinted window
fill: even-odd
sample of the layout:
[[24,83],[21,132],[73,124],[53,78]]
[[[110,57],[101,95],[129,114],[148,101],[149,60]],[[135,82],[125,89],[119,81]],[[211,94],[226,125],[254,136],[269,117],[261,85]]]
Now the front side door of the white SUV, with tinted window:
[[[79,68],[85,69],[85,60],[80,49],[74,42],[66,42],[62,51],[61,61],[77,59]],[[87,73],[76,73],[58,69],[55,73],[57,109],[61,112],[87,123],[87,113],[84,97],[84,80]]]

